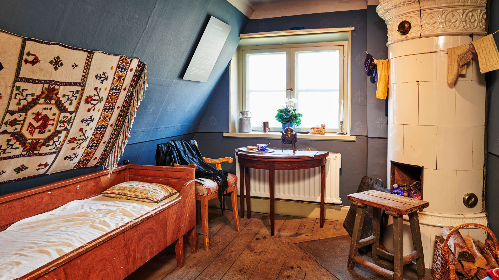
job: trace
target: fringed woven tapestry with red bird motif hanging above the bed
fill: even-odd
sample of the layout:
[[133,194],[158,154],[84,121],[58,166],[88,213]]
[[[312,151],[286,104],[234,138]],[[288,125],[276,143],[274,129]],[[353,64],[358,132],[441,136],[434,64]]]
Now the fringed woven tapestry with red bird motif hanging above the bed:
[[0,183],[113,169],[147,87],[138,58],[0,30]]

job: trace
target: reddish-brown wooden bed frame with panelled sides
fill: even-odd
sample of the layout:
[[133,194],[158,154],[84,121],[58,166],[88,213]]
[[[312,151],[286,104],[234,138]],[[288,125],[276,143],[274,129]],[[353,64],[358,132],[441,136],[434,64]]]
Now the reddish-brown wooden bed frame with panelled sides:
[[21,280],[122,280],[175,243],[184,265],[184,234],[197,250],[194,168],[122,165],[0,196],[0,231],[12,223],[84,199],[125,181],[164,183],[177,198],[34,270]]

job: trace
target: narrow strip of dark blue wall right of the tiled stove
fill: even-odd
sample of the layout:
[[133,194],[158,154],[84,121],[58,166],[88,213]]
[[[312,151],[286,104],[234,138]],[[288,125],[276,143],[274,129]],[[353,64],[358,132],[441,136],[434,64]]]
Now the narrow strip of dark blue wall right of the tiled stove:
[[[490,31],[499,29],[499,2],[490,1]],[[497,34],[494,35],[499,45]],[[489,108],[487,116],[487,177],[485,185],[485,209],[489,216],[489,227],[496,236],[499,236],[499,205],[495,203],[499,198],[499,70],[487,74],[489,86]]]

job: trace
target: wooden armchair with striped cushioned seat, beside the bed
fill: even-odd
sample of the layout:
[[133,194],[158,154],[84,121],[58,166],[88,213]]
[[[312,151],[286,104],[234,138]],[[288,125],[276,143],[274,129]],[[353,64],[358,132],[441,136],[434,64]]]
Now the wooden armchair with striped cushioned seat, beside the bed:
[[[196,143],[196,146],[198,145],[198,142],[194,141]],[[215,164],[216,168],[218,170],[222,170],[222,164],[223,162],[229,162],[233,163],[234,159],[232,157],[222,157],[222,158],[208,158],[208,157],[203,157],[203,160],[206,163],[213,163]],[[173,166],[180,166],[180,167],[194,167],[196,170],[198,169],[198,166],[194,163],[191,164],[173,164]],[[207,181],[212,181],[214,184],[212,185],[212,188],[207,188],[204,183],[208,183]],[[231,193],[231,200],[232,200],[232,211],[234,213],[234,225],[236,226],[236,230],[239,232],[239,215],[238,215],[238,178],[236,175],[229,174],[229,187],[227,188],[227,191],[224,194]],[[208,231],[208,201],[210,199],[218,197],[218,186],[217,183],[213,180],[210,179],[196,179],[196,217],[199,223],[199,218],[201,216],[201,226],[203,228],[203,239],[205,241],[205,250],[208,251],[210,246],[210,237],[209,237],[209,231]]]

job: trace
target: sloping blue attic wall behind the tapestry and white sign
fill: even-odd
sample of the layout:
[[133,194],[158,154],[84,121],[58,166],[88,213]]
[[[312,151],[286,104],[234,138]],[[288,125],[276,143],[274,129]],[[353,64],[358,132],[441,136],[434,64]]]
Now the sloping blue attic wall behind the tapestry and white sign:
[[[206,83],[182,76],[210,15],[232,26]],[[0,29],[139,57],[149,87],[121,159],[155,164],[156,144],[193,139],[249,19],[227,0],[2,0]],[[90,167],[0,185],[0,195],[96,171]]]

